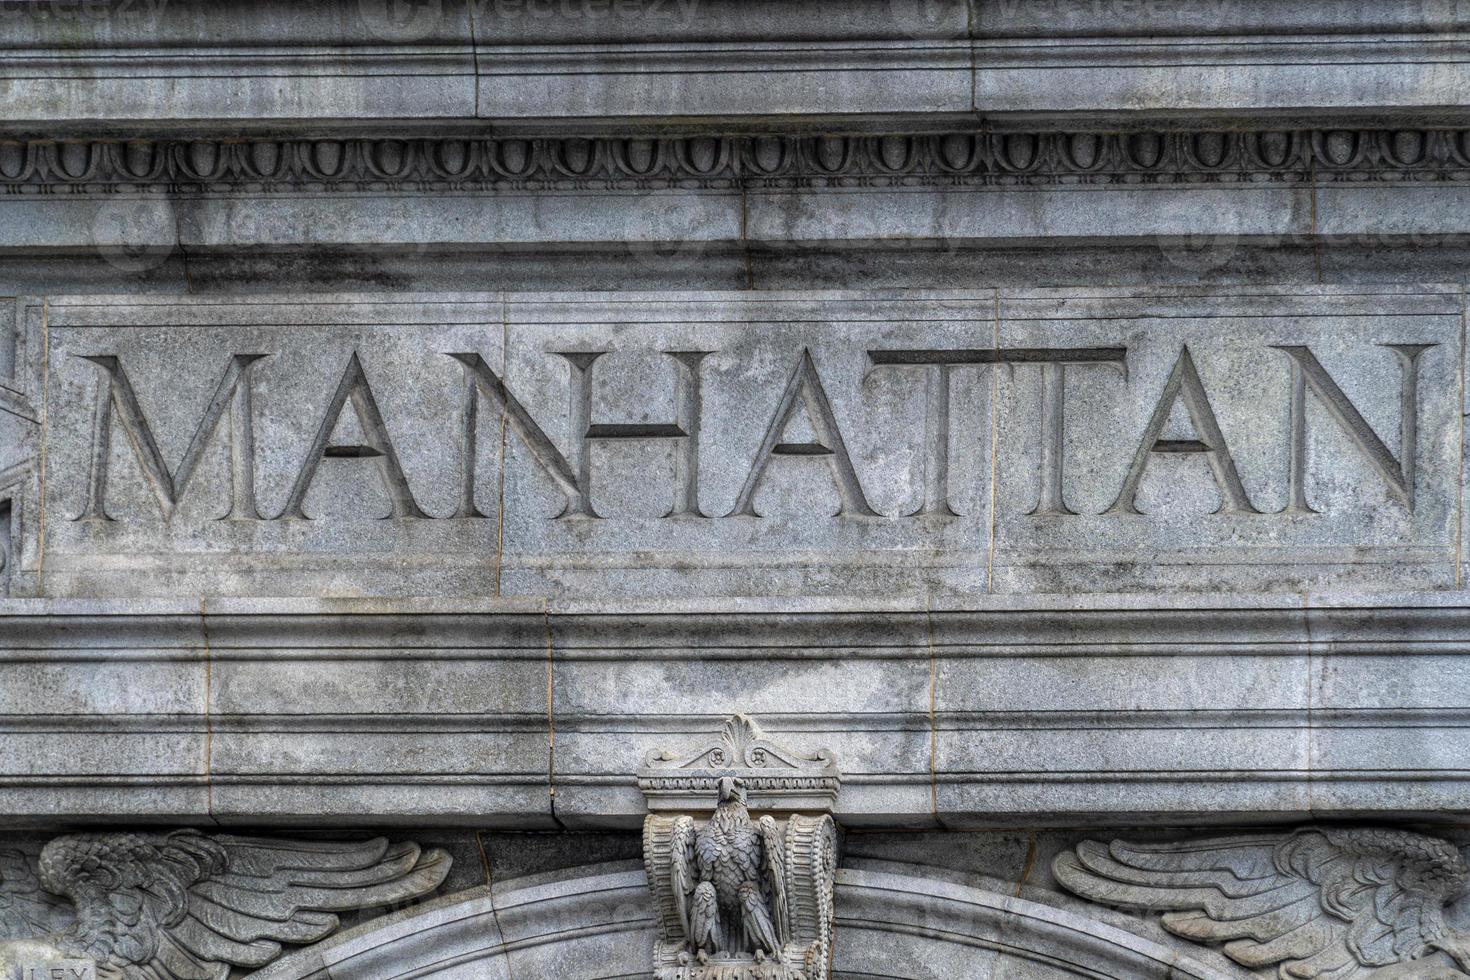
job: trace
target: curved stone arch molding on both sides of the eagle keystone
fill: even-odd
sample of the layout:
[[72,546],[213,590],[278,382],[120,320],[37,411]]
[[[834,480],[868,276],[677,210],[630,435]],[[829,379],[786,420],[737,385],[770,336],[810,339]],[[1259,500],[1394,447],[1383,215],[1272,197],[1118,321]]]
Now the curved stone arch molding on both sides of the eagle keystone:
[[[1242,980],[1097,918],[929,877],[916,865],[838,876],[842,980]],[[469,980],[650,976],[642,867],[592,865],[416,905],[297,951],[251,980]]]

